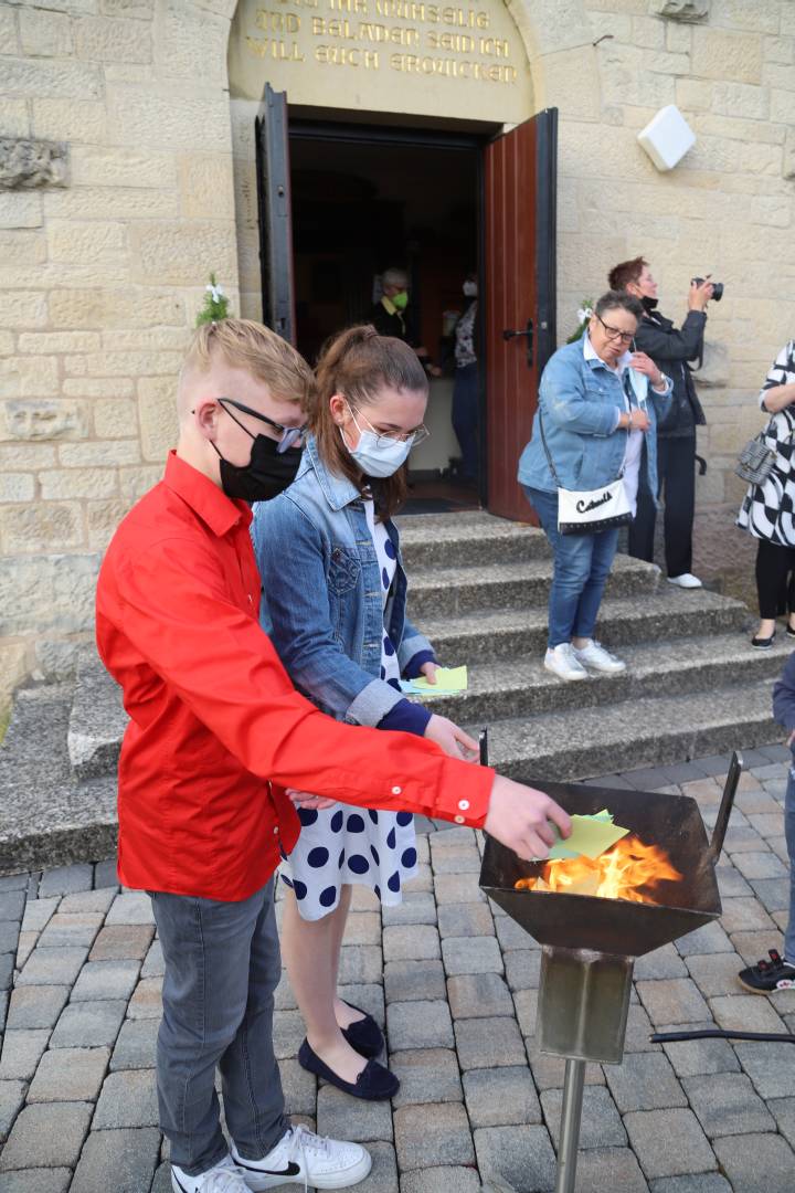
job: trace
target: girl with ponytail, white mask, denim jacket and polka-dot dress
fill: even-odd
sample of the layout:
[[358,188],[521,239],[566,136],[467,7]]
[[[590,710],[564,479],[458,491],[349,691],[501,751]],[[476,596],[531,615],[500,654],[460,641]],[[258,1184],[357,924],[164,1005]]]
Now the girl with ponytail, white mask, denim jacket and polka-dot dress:
[[[339,719],[420,734],[456,758],[477,743],[406,700],[400,679],[436,662],[406,617],[406,579],[392,514],[405,462],[428,434],[428,381],[414,351],[373,327],[324,348],[294,483],[254,515],[263,626],[296,686]],[[384,1037],[337,991],[353,884],[384,905],[417,873],[409,812],[362,810],[294,793],[298,845],[282,867],[281,946],[306,1024],[299,1063],[356,1098],[391,1098],[398,1080],[375,1061]]]

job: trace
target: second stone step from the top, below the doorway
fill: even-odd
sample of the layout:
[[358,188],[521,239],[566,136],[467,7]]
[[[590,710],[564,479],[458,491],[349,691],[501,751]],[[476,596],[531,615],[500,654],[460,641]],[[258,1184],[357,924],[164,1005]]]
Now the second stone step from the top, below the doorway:
[[[617,555],[608,580],[608,596],[641,596],[657,591],[659,568]],[[409,580],[409,613],[415,624],[433,617],[483,613],[496,608],[546,608],[552,560],[490,563],[460,568],[416,568]]]

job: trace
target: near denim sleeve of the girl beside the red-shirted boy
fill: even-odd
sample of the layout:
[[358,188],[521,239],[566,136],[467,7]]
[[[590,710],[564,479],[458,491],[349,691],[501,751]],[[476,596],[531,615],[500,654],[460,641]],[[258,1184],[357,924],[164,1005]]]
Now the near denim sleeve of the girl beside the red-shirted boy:
[[377,725],[403,694],[348,659],[334,636],[322,530],[282,495],[257,507],[253,537],[271,638],[293,684],[337,716]]

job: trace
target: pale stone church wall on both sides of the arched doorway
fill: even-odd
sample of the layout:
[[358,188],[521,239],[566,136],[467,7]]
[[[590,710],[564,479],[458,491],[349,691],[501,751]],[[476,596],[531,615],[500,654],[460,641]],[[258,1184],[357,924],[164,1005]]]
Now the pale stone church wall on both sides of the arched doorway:
[[[238,278],[253,274],[250,159],[226,75],[235,7],[0,8],[0,703],[25,675],[74,665],[101,552],[173,444],[175,375],[207,272],[235,310]],[[747,571],[731,528],[733,457],[760,425],[769,363],[795,334],[791,5],[509,10],[536,106],[561,115],[559,338],[626,256],[648,256],[676,319],[694,273],[726,282],[701,382],[710,468],[697,564]],[[659,174],[635,137],[669,103],[697,143]]]

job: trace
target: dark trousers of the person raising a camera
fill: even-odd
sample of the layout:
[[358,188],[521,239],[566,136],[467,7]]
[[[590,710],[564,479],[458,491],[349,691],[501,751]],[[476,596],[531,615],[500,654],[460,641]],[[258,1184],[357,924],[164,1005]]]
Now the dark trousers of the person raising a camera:
[[[692,517],[696,507],[696,437],[657,440],[659,495],[665,501],[665,569],[669,576],[692,571]],[[638,513],[629,527],[629,555],[654,560],[657,508],[648,489],[638,493]]]

